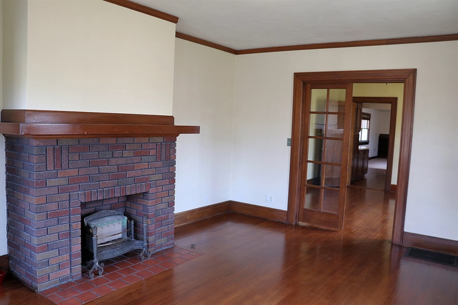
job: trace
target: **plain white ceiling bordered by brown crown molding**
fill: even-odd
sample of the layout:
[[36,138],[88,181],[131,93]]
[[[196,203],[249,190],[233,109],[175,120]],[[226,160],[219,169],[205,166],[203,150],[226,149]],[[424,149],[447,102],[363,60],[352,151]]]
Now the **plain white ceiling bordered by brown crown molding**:
[[458,0],[134,0],[233,49],[458,33]]

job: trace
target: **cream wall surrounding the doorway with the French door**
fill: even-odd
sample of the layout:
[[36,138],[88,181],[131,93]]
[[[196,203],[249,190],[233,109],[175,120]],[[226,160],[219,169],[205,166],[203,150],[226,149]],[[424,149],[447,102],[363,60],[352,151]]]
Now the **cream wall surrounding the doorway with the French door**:
[[294,72],[401,68],[418,69],[405,230],[458,240],[458,41],[237,55],[230,199],[287,209]]

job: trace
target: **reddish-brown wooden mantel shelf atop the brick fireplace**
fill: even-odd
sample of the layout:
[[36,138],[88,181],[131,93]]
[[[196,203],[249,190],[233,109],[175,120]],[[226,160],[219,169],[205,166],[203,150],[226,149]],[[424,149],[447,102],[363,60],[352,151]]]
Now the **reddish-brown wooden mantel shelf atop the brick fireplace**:
[[178,136],[200,126],[174,125],[171,115],[4,109],[0,133],[31,138]]

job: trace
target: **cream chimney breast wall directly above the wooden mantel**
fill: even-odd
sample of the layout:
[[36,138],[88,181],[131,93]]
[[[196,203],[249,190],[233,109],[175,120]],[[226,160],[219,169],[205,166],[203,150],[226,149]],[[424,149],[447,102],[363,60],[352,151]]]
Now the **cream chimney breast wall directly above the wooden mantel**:
[[27,89],[5,108],[172,114],[174,23],[102,0],[13,2],[27,6]]

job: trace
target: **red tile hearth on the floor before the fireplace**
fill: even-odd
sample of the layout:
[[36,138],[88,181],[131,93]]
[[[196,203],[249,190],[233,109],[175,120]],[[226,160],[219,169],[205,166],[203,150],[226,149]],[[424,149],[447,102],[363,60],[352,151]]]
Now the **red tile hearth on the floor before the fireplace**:
[[[129,252],[104,261],[104,274],[101,276],[95,272],[95,277],[90,279],[87,270],[83,269],[82,278],[44,290],[40,294],[55,304],[84,304],[201,255],[175,246],[158,251],[151,258],[140,261],[133,259],[138,253]],[[0,270],[0,281],[3,281],[5,272],[3,275],[1,272]]]

